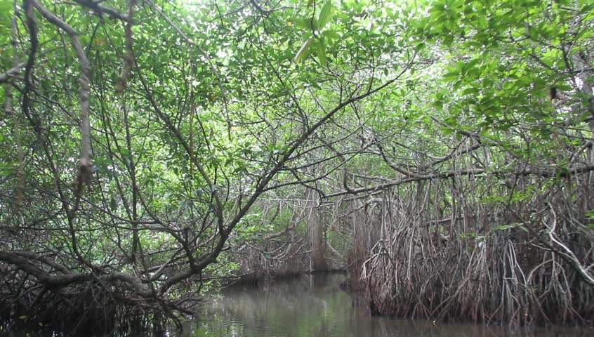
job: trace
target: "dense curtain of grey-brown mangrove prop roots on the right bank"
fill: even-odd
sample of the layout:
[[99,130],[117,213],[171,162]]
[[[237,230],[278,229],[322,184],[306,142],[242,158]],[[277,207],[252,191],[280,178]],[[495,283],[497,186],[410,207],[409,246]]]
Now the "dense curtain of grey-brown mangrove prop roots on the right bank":
[[[594,231],[579,208],[592,209],[594,196],[571,184],[508,204],[479,202],[476,192],[494,191],[463,179],[385,192],[358,227],[350,286],[381,315],[592,324]],[[438,218],[432,209],[444,190],[452,210]]]

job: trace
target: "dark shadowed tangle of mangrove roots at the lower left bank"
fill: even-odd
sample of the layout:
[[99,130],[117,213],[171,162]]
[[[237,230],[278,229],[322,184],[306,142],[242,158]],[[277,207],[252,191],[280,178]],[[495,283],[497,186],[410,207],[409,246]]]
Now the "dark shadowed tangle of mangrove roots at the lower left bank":
[[[145,333],[160,336],[179,324],[174,302],[140,298],[121,282],[89,279],[47,286],[13,265],[0,264],[4,329],[52,329],[69,336]],[[177,312],[177,314],[176,314]]]

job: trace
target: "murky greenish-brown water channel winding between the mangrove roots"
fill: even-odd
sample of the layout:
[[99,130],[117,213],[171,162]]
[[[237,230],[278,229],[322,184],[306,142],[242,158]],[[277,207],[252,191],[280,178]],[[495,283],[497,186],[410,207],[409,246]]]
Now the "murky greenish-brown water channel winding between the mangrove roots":
[[259,286],[234,286],[206,303],[179,336],[236,337],[499,337],[594,336],[591,328],[509,331],[475,324],[433,324],[369,317],[339,284],[340,273],[302,275]]

